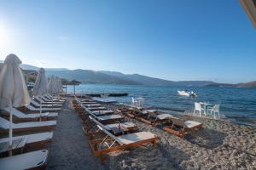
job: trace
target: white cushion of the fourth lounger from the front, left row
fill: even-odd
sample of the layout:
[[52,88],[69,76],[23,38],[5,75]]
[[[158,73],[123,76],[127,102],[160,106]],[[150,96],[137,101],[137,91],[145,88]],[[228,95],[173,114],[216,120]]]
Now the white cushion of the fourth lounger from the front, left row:
[[[7,111],[9,113],[9,108],[5,108],[4,111]],[[58,116],[58,113],[42,113],[41,115],[38,113],[34,113],[34,114],[25,114],[19,110],[16,110],[15,108],[13,108],[13,115],[22,119],[28,119],[28,118],[39,118],[39,117],[56,117]]]

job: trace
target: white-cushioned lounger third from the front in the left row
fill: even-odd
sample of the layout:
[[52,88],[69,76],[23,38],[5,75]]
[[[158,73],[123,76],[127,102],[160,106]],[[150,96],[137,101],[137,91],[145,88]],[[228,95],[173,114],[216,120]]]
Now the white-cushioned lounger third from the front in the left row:
[[[13,132],[30,132],[37,130],[52,130],[56,125],[56,121],[42,122],[20,122],[12,123]],[[9,121],[0,117],[0,133],[9,133]]]

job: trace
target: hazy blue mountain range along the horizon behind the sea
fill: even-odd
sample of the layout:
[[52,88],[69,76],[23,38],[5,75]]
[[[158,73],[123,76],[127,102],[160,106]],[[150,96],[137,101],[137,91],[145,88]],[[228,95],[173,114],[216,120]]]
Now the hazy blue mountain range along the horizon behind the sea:
[[[0,63],[3,62],[0,60]],[[24,70],[38,71],[38,67],[22,64]],[[77,80],[82,83],[99,84],[127,84],[127,85],[148,85],[148,86],[185,86],[185,87],[239,87],[256,88],[255,82],[239,84],[226,84],[211,81],[170,81],[160,78],[147,77],[140,74],[123,74],[118,71],[91,71],[91,70],[68,70],[66,68],[45,68],[46,76],[51,75],[65,78],[68,81]]]

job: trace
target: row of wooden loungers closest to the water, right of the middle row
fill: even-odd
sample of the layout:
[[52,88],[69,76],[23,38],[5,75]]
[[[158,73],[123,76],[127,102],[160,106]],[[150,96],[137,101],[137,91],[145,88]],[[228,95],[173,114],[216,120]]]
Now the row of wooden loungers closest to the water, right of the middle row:
[[201,122],[183,121],[170,114],[157,114],[154,110],[143,110],[143,108],[129,107],[117,110],[130,118],[155,126],[157,123],[164,125],[164,130],[183,137],[186,133],[202,128]]

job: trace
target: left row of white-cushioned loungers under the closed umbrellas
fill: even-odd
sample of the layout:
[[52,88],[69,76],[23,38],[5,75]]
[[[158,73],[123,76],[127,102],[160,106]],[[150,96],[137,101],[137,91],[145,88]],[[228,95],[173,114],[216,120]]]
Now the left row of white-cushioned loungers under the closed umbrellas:
[[[45,95],[39,99],[44,99],[44,102],[54,100],[58,105],[62,106],[65,100]],[[33,102],[33,101],[32,101]],[[61,103],[60,103],[61,102]],[[43,102],[41,101],[43,104]],[[49,109],[46,105],[42,109]],[[49,144],[56,125],[55,118],[57,112],[44,112],[39,114],[38,111],[28,114],[13,108],[13,149],[15,156],[8,156],[9,138],[0,139],[0,169],[15,170],[15,169],[44,169],[48,157],[48,150],[45,150],[46,144]],[[54,110],[60,111],[60,110]],[[1,111],[0,117],[0,134],[9,133],[9,109]],[[32,133],[33,132],[33,133]],[[35,133],[38,132],[38,133]],[[22,133],[23,135],[20,135]],[[26,150],[32,150],[26,152]],[[38,150],[41,149],[41,150]],[[26,152],[21,153],[20,152]],[[18,154],[18,155],[17,155]]]

